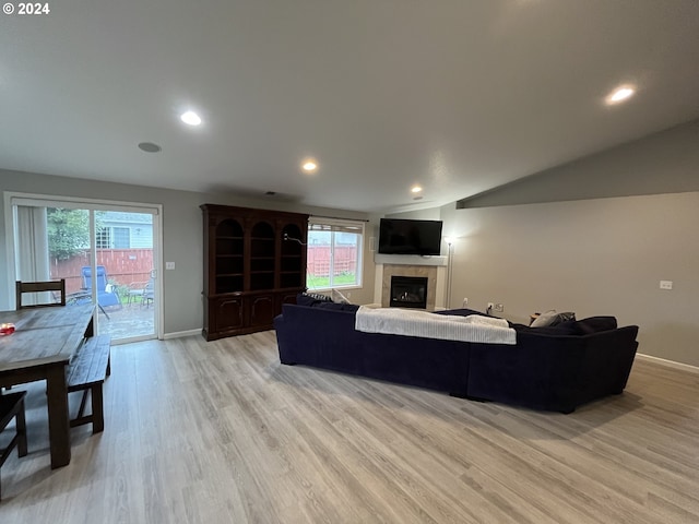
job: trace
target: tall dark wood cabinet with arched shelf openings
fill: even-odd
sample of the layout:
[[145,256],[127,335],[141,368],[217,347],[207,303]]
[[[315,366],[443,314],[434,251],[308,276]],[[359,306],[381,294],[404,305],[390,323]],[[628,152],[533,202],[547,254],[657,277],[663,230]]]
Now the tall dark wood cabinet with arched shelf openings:
[[[201,205],[208,341],[272,329],[306,289],[308,215]],[[300,242],[300,243],[299,243]]]

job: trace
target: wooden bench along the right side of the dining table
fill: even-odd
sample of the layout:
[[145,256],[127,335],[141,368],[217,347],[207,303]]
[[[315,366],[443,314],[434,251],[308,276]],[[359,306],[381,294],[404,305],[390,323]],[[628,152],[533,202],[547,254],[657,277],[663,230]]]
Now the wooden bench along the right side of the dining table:
[[[98,433],[105,429],[102,385],[111,372],[109,361],[110,345],[111,337],[109,335],[91,336],[85,340],[85,343],[68,366],[68,392],[83,392],[78,416],[70,421],[71,428],[92,424],[93,433]],[[90,393],[92,400],[92,413],[90,415],[85,415],[87,393]]]

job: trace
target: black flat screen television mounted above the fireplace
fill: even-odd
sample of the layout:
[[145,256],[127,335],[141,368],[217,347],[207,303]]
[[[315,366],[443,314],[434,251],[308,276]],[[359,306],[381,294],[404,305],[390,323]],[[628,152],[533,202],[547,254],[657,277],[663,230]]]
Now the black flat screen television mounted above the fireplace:
[[441,221],[381,218],[379,253],[439,254],[441,224]]

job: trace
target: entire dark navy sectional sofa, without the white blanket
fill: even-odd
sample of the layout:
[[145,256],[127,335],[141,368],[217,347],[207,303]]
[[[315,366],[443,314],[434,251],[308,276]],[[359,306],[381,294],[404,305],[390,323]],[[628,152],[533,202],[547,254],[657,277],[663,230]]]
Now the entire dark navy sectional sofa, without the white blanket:
[[555,327],[511,324],[517,345],[505,345],[359,332],[356,309],[333,302],[284,305],[274,319],[281,362],[571,413],[621,393],[638,346],[638,326],[617,327],[613,317]]

